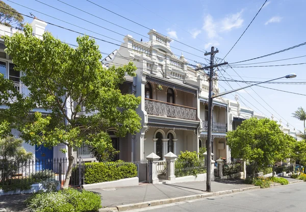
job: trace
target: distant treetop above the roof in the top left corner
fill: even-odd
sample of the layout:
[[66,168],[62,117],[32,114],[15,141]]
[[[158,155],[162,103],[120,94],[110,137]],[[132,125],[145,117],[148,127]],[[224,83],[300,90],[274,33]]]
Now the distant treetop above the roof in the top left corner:
[[13,25],[23,27],[23,16],[16,13],[17,10],[5,4],[3,1],[0,1],[0,6],[8,9],[0,8],[0,23],[8,27],[12,27]]

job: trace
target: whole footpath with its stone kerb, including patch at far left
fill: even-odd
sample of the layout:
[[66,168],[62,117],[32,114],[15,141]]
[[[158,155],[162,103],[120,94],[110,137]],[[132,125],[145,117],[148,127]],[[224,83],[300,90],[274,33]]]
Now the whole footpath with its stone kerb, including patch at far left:
[[[298,182],[288,178],[291,183]],[[104,208],[99,211],[123,211],[136,208],[188,201],[210,196],[231,194],[259,189],[259,186],[244,184],[242,180],[222,180],[211,182],[212,192],[206,192],[206,181],[183,182],[174,184],[148,184],[118,187],[116,189],[88,190],[101,195]],[[0,196],[0,212],[28,212],[24,200],[29,195]]]

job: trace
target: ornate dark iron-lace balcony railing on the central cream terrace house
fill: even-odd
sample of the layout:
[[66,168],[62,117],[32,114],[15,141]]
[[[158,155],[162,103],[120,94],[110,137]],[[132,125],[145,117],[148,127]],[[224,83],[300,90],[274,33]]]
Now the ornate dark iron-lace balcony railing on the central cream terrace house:
[[145,111],[151,115],[197,120],[196,108],[145,98]]

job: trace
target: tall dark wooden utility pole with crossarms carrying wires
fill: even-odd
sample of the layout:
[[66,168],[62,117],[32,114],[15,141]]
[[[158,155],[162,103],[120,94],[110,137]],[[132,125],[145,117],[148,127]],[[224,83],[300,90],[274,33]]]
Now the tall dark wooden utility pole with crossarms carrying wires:
[[214,65],[214,56],[219,50],[215,51],[214,46],[212,46],[211,52],[205,53],[205,56],[211,55],[210,66],[203,67],[203,69],[209,68],[209,91],[208,91],[208,129],[207,129],[207,177],[206,177],[206,191],[211,192],[211,181],[212,181],[212,127],[213,127],[213,77],[214,77],[214,67],[225,65],[227,62]]

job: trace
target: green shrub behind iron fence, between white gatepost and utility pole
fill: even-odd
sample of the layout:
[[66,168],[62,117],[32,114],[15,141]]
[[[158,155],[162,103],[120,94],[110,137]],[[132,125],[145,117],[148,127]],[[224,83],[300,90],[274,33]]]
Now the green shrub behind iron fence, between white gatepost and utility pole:
[[206,173],[206,168],[203,159],[198,158],[197,153],[194,152],[182,152],[177,157],[175,163],[175,176],[197,176],[198,174]]

